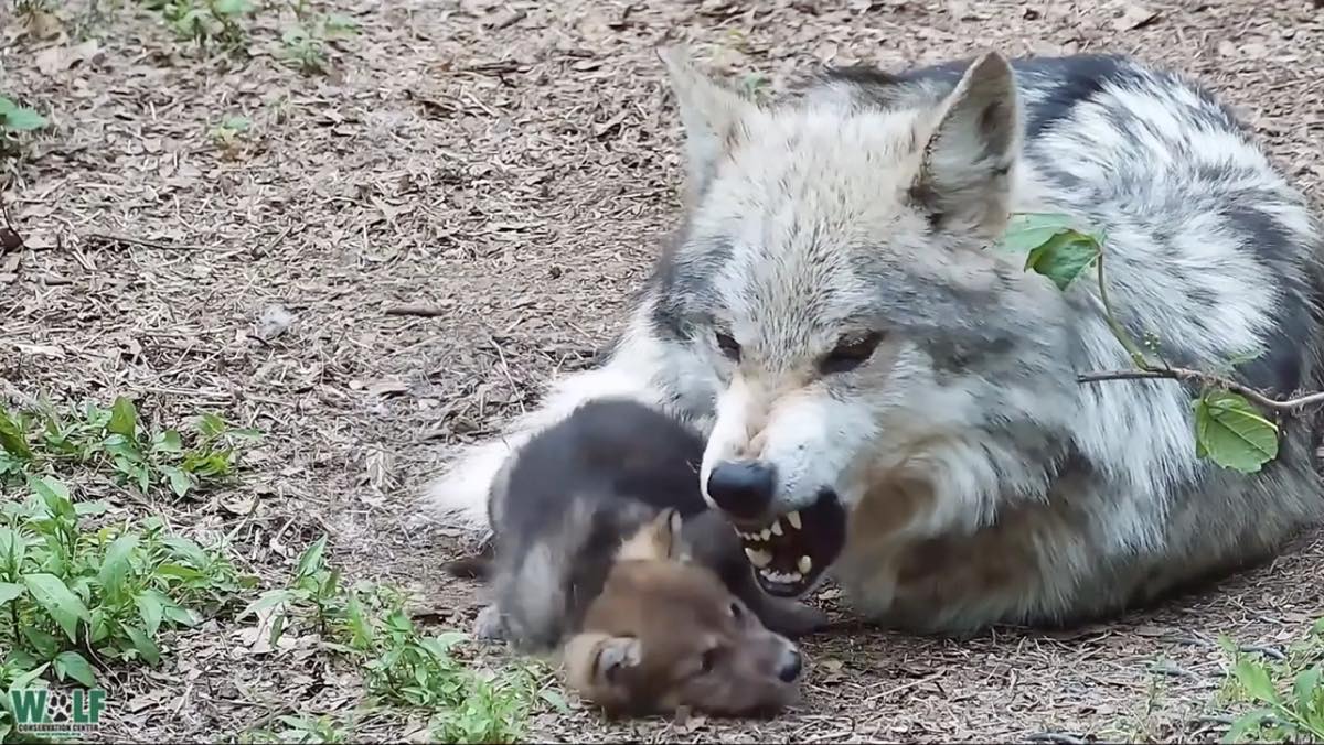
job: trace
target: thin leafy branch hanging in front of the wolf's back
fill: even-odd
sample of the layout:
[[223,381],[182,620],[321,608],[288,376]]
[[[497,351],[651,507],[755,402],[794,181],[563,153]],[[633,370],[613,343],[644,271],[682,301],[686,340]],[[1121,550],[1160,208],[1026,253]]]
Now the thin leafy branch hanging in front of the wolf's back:
[[[1096,270],[1099,303],[1104,320],[1131,357],[1133,369],[1090,372],[1076,376],[1080,384],[1113,380],[1173,380],[1200,386],[1192,401],[1196,413],[1196,454],[1225,468],[1254,474],[1278,457],[1279,427],[1263,410],[1291,416],[1324,404],[1324,393],[1275,398],[1229,377],[1151,360],[1144,348],[1117,320],[1104,275],[1104,234],[1071,226],[1063,214],[1017,213],[1008,225],[1002,246],[1025,251],[1025,269],[1047,277],[1066,291],[1086,270]],[[1254,404],[1253,404],[1254,402]]]

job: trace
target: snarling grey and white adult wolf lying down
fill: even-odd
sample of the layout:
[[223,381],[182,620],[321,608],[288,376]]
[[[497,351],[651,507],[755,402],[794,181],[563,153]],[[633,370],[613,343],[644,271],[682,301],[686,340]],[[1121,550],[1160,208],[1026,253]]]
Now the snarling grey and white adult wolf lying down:
[[528,431],[630,396],[708,433],[704,495],[767,590],[830,569],[867,615],[948,633],[1115,613],[1324,512],[1312,414],[1256,475],[1200,459],[1190,389],[1076,381],[1129,364],[1096,285],[989,247],[1009,213],[1071,216],[1106,232],[1120,323],[1170,364],[1253,352],[1239,380],[1317,389],[1320,226],[1210,93],[1123,57],[990,52],[756,105],[663,57],[685,225],[609,360],[465,454],[437,509],[481,523]]

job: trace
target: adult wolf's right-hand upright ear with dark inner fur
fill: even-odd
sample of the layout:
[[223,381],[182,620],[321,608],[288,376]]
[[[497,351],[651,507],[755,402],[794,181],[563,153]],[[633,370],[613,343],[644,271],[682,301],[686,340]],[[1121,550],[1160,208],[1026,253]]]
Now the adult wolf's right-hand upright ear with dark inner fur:
[[937,109],[911,187],[935,222],[1001,230],[1008,173],[1021,152],[1021,106],[1010,62],[996,52],[974,61]]

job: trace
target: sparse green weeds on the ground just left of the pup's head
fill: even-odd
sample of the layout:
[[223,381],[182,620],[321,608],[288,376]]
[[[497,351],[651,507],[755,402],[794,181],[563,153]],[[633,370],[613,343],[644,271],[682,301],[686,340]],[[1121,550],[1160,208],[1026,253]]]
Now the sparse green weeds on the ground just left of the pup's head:
[[[263,593],[241,618],[254,615],[273,646],[290,633],[319,635],[326,648],[361,668],[367,689],[361,709],[406,709],[426,716],[429,733],[440,742],[510,742],[523,734],[535,699],[559,701],[538,691],[540,676],[532,667],[499,672],[466,668],[451,655],[465,634],[422,634],[405,611],[402,593],[368,582],[344,586],[340,572],[328,568],[324,558],[323,536],[299,557],[290,582]],[[335,741],[332,737],[347,734],[343,721],[316,721],[315,733],[295,728],[294,720],[283,721],[299,729],[299,737],[312,738],[305,741]]]

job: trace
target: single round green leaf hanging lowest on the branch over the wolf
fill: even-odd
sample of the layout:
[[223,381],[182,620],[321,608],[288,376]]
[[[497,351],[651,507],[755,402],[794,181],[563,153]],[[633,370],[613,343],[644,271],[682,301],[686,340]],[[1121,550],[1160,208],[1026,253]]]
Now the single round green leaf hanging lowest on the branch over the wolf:
[[1278,457],[1278,426],[1245,397],[1214,390],[1194,401],[1196,453],[1214,463],[1254,474]]

